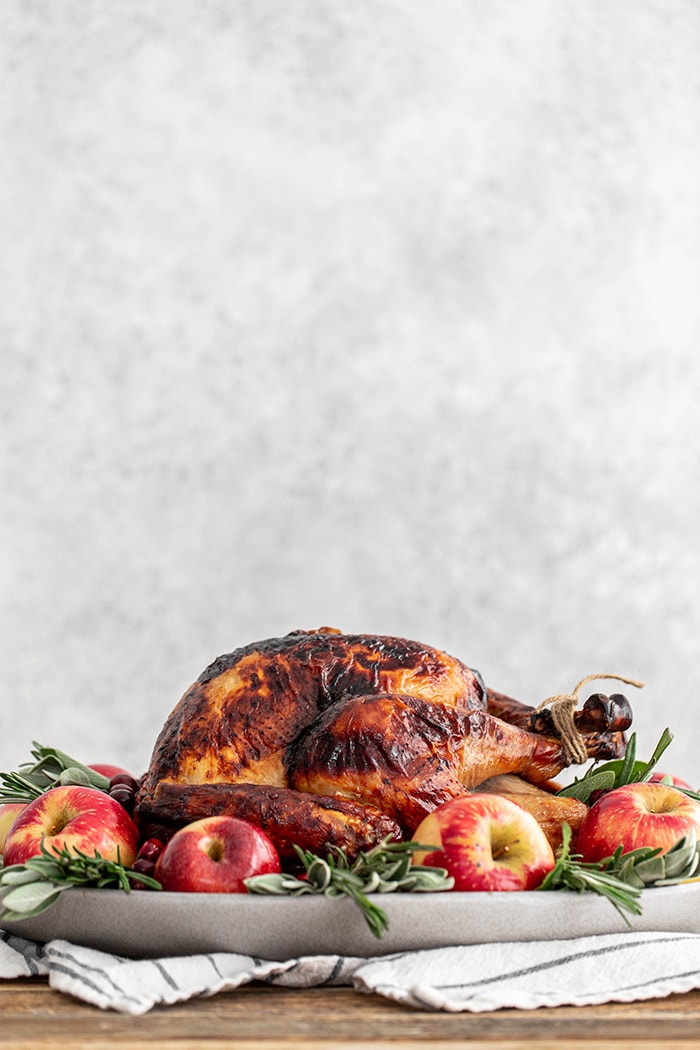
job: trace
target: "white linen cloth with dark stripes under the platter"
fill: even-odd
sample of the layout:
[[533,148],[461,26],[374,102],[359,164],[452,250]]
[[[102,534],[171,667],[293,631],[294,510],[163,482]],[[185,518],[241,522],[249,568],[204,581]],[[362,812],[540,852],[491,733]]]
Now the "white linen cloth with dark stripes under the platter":
[[0,978],[35,973],[48,974],[59,991],[133,1014],[250,981],[300,988],[348,985],[424,1010],[589,1006],[700,987],[700,934],[611,933],[280,963],[233,952],[133,960],[67,941],[39,945],[0,931]]

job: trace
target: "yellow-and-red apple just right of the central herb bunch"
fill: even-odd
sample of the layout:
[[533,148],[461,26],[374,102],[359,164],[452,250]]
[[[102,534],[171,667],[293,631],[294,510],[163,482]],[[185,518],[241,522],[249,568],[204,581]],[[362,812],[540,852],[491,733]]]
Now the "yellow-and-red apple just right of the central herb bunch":
[[526,810],[501,795],[466,795],[438,806],[413,834],[438,848],[416,864],[444,867],[454,889],[534,889],[554,867],[544,831]]

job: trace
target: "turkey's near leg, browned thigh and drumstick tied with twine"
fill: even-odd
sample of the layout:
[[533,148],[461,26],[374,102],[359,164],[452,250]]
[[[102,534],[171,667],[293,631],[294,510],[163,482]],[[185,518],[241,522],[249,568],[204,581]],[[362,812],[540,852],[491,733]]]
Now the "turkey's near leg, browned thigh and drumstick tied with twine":
[[[608,753],[589,740],[589,753]],[[415,696],[355,696],[321,714],[290,749],[289,778],[302,792],[377,804],[408,834],[443,802],[490,777],[517,773],[546,784],[566,766],[558,739],[486,711]]]

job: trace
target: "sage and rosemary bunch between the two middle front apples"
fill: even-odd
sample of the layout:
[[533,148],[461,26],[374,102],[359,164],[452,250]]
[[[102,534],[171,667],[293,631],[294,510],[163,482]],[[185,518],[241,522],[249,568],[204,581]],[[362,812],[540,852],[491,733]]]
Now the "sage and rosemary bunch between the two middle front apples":
[[388,916],[372,901],[369,894],[427,894],[451,889],[454,880],[444,868],[412,864],[412,855],[429,846],[418,842],[393,842],[382,839],[376,846],[351,861],[340,846],[333,846],[325,857],[295,845],[304,875],[257,875],[246,879],[251,894],[290,895],[323,894],[325,897],[349,897],[360,908],[376,938],[388,928]]

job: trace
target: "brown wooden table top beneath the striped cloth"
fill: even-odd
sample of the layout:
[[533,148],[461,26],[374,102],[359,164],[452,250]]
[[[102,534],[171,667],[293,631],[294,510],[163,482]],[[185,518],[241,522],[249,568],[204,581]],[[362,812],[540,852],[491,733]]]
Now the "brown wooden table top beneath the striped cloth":
[[254,983],[140,1017],[52,991],[43,978],[0,981],[0,1046],[15,1050],[690,1050],[700,1048],[700,991],[641,1003],[431,1013],[349,988]]

